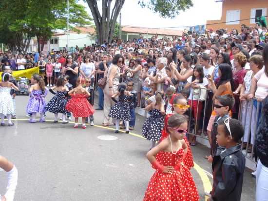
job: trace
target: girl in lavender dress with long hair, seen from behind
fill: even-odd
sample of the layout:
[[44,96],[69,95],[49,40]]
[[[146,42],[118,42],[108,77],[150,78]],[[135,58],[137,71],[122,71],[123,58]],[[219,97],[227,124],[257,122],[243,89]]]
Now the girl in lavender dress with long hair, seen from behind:
[[30,123],[36,122],[37,113],[40,114],[39,122],[45,122],[44,112],[46,101],[45,97],[47,95],[47,88],[45,87],[44,80],[38,75],[34,74],[31,78],[31,83],[33,84],[30,87],[29,94],[30,99],[27,104],[26,112],[27,114],[32,114]]

